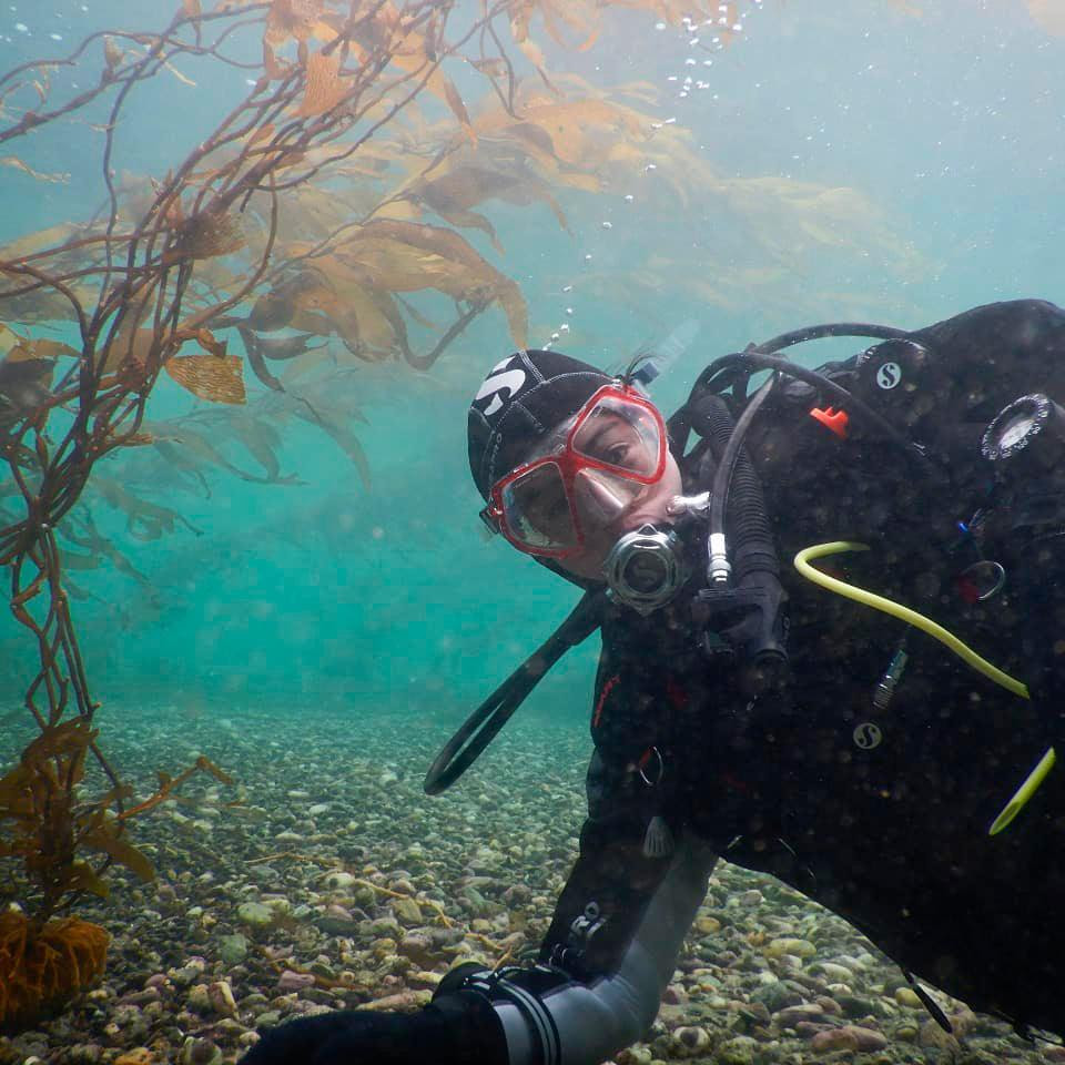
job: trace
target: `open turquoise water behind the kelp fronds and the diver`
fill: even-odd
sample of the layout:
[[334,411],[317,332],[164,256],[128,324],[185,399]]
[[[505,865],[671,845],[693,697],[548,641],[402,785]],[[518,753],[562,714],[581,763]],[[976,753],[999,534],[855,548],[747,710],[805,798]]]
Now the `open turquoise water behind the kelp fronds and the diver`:
[[[138,28],[160,24],[171,7],[140,4]],[[481,234],[466,235],[519,282],[529,342],[545,343],[566,322],[571,331],[558,346],[611,365],[694,317],[693,349],[658,388],[668,407],[711,357],[813,321],[917,326],[997,298],[1053,300],[1062,284],[1065,39],[1036,24],[1020,0],[924,4],[919,14],[902,8],[765,0],[747,6],[742,33],[723,51],[632,12],[611,16],[586,53],[562,52],[540,33],[552,69],[577,71],[595,91],[639,82],[657,93],[657,103],[635,105],[666,123],[661,136],[682,130],[717,181],[687,190],[680,203],[661,171],[606,172],[598,194],[558,192],[571,236],[542,203],[489,204],[506,255]],[[118,3],[47,12],[12,4],[0,20],[0,65],[60,53],[91,30],[130,20]],[[697,65],[686,65],[692,55]],[[195,88],[163,72],[134,94],[118,140],[120,172],[161,174],[244,88],[217,64],[180,65]],[[706,88],[678,99],[692,70]],[[61,70],[53,79],[59,87],[77,77]],[[4,168],[4,202],[20,205],[6,212],[6,234],[94,210],[99,144],[99,133],[72,123],[11,142],[38,170],[72,178],[40,184]],[[423,306],[444,313],[439,300]],[[300,486],[209,469],[205,498],[159,455],[109,458],[101,473],[166,500],[202,535],[179,527],[140,541],[90,488],[101,528],[145,578],[105,568],[80,579],[103,600],[77,605],[99,698],[129,712],[161,694],[284,714],[302,694],[359,718],[406,707],[457,720],[574,600],[571,589],[479,534],[465,406],[510,346],[501,315],[489,311],[428,374],[398,363],[351,368],[336,396],[365,415],[353,428],[369,488],[328,438],[292,419],[281,427],[278,455]],[[248,412],[268,419],[256,413],[263,389],[248,378]],[[164,381],[150,417],[189,409],[187,395]],[[262,475],[240,444],[222,447]],[[23,676],[31,648],[8,621],[0,648]],[[572,655],[526,712],[572,714],[576,726],[594,651]],[[17,698],[18,687],[6,697]]]

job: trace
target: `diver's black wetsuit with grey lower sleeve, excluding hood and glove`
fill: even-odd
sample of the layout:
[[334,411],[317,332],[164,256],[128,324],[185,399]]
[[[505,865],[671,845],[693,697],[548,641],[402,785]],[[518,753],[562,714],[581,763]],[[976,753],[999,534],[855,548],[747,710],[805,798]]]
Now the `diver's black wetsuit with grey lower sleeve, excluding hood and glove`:
[[[996,304],[916,337],[931,361],[902,365],[903,381],[883,396],[869,381],[875,348],[824,371],[925,443],[946,480],[922,475],[856,418],[835,435],[810,416],[818,397],[802,387],[784,389],[752,426],[748,452],[790,599],[783,690],[752,701],[727,661],[708,661],[683,595],[647,618],[623,607],[607,617],[579,859],[540,967],[479,984],[504,1016],[511,1063],[590,1065],[639,1037],[716,856],[788,882],[977,1010],[1065,1030],[1065,765],[988,835],[1059,734],[1065,551],[1055,534],[1065,506],[1048,504],[1032,523],[1021,497],[1062,498],[1062,475],[996,486],[977,449],[1017,396],[1065,403],[1065,312]],[[957,525],[981,509],[991,514],[982,540]],[[795,552],[829,540],[870,550],[819,566],[932,617],[1034,698],[802,578]],[[961,575],[980,548],[1007,580],[973,602]],[[873,693],[904,633],[909,660],[880,710]],[[656,816],[672,845],[649,858]],[[508,1001],[500,983],[518,997]],[[525,1002],[515,988],[530,992]]]

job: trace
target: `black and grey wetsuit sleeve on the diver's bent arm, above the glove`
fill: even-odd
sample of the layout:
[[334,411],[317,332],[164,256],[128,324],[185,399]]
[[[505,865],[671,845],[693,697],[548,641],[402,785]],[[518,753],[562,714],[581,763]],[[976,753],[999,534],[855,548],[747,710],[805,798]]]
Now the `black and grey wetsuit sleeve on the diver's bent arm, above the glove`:
[[703,840],[674,825],[649,845],[662,791],[653,758],[641,764],[655,708],[640,691],[605,655],[588,818],[537,964],[463,976],[496,1008],[508,1065],[597,1065],[638,1041],[706,895],[717,856]]

